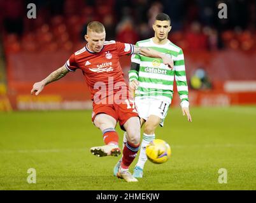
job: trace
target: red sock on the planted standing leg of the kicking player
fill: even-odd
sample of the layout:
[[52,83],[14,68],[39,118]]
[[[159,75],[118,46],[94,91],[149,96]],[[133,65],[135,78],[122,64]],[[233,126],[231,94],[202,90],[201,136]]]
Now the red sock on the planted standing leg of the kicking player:
[[121,167],[123,169],[129,168],[132,161],[135,159],[138,150],[139,150],[139,144],[133,145],[132,143],[129,143],[129,141],[127,141],[126,145],[124,146],[123,157],[121,162]]

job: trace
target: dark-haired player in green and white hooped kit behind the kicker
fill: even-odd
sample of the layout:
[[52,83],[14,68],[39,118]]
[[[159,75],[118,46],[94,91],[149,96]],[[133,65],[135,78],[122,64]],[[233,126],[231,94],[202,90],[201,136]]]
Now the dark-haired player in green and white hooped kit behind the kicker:
[[[143,167],[147,160],[146,145],[155,139],[157,126],[159,124],[164,126],[164,118],[173,98],[174,78],[180,95],[182,113],[187,115],[188,122],[192,122],[188,108],[188,86],[183,51],[167,39],[171,30],[169,16],[165,13],[157,15],[153,23],[153,30],[155,31],[154,37],[138,41],[136,45],[170,55],[173,58],[174,66],[173,69],[170,69],[159,58],[148,58],[142,55],[132,55],[131,57],[129,85],[135,89],[134,102],[141,118],[141,126],[145,124],[139,160],[134,167],[133,176],[135,178],[143,177]],[[125,141],[126,134],[124,134],[124,143]]]

